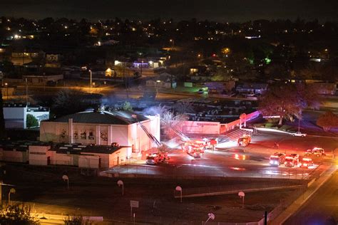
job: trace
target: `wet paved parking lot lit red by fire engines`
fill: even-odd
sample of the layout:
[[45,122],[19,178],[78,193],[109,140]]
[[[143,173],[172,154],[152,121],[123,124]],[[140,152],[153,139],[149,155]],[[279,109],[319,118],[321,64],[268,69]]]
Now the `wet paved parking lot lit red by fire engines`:
[[[274,149],[277,142],[280,147]],[[329,137],[292,137],[285,134],[260,133],[252,137],[247,147],[237,147],[235,143],[221,143],[217,150],[208,150],[201,158],[194,158],[183,152],[180,147],[170,150],[170,161],[166,164],[146,165],[128,164],[113,167],[106,171],[112,174],[146,174],[173,177],[261,177],[309,179],[320,173],[332,163],[332,151],[337,140]],[[305,150],[323,147],[324,157],[312,157],[314,165],[309,169],[299,167],[272,167],[269,157],[274,152],[297,153],[302,157]]]

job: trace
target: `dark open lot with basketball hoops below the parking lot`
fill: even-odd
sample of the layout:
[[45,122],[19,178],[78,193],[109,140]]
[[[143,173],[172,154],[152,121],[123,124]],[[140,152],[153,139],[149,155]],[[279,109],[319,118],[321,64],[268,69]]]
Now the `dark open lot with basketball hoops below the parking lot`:
[[[68,174],[70,189],[61,179]],[[123,179],[124,196],[117,179],[83,176],[76,168],[6,166],[4,183],[16,185],[11,199],[34,206],[33,211],[46,214],[103,216],[108,221],[130,221],[130,200],[139,201],[134,209],[135,220],[147,224],[200,224],[215,221],[250,222],[262,218],[264,211],[272,210],[292,191],[256,192],[245,195],[245,208],[237,194],[216,197],[174,199],[174,189],[184,189],[252,183],[242,180],[176,180],[176,179]],[[258,182],[258,181],[257,181]],[[9,187],[3,187],[8,193]],[[6,199],[6,194],[3,194]]]

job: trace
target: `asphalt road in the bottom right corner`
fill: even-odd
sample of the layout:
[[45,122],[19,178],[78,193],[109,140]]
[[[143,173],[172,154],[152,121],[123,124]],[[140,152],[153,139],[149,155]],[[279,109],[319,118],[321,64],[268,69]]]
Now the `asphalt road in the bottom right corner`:
[[285,225],[338,224],[338,173],[324,184]]

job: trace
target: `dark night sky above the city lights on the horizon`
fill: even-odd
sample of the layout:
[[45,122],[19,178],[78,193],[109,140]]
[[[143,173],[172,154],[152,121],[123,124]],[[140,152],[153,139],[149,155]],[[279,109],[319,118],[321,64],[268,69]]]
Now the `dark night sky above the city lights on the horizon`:
[[338,0],[0,0],[0,16],[41,19],[301,19],[338,21]]

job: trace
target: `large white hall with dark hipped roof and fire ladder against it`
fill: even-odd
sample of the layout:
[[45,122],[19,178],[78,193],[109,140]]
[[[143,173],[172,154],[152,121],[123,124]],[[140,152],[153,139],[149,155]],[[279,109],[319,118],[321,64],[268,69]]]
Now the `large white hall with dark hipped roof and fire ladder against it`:
[[133,112],[78,112],[41,122],[43,142],[81,143],[84,145],[128,146],[130,152],[157,147],[153,137],[160,140],[160,118],[145,117]]

